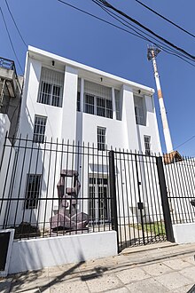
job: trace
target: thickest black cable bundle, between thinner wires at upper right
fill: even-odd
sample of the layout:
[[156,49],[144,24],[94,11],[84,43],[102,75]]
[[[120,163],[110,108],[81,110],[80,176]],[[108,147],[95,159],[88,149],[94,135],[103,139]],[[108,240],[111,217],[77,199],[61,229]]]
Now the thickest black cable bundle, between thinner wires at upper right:
[[161,41],[163,41],[164,43],[170,45],[171,47],[173,47],[174,49],[176,49],[177,51],[181,51],[183,52],[185,55],[187,55],[188,57],[190,57],[191,59],[195,59],[195,56],[191,55],[191,53],[183,50],[183,48],[180,48],[178,46],[176,46],[175,44],[169,42],[167,39],[165,39],[164,37],[156,34],[154,31],[152,31],[152,29],[145,27],[141,22],[134,20],[132,17],[130,17],[128,14],[126,14],[125,12],[121,12],[119,9],[115,8],[112,4],[109,4],[108,2],[106,2],[105,0],[92,0],[92,2],[94,2],[95,4],[104,4],[105,7],[108,7],[110,9],[112,9],[113,11],[121,14],[123,17],[127,18],[128,20],[132,21],[133,23],[136,23],[136,25],[140,28],[144,28],[144,30],[146,30],[147,32],[149,32],[150,34],[152,34],[153,36],[158,37]]

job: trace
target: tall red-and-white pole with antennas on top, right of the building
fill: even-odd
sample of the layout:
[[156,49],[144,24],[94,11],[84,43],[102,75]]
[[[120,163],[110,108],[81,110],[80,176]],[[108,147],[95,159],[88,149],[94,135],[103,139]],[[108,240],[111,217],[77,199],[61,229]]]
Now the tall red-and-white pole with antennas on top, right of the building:
[[159,54],[160,50],[158,48],[155,48],[153,46],[148,47],[147,51],[147,58],[148,60],[152,60],[153,63],[153,71],[154,71],[154,77],[156,81],[156,87],[157,87],[157,93],[159,98],[159,104],[160,104],[160,115],[161,115],[161,121],[163,126],[163,133],[165,138],[165,144],[167,148],[167,153],[171,153],[173,151],[173,145],[171,141],[170,131],[168,128],[168,118],[166,114],[166,109],[163,101],[162,91],[160,87],[160,76],[157,69],[156,64],[156,56]]

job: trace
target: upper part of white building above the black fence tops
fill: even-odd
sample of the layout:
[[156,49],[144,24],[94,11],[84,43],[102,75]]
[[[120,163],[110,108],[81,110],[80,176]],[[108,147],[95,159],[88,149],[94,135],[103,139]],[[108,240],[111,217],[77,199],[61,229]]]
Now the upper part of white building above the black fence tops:
[[[29,47],[20,133],[161,153],[153,90]],[[43,127],[38,128],[42,123]]]

